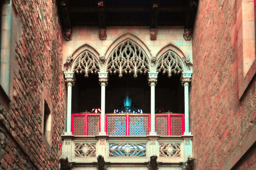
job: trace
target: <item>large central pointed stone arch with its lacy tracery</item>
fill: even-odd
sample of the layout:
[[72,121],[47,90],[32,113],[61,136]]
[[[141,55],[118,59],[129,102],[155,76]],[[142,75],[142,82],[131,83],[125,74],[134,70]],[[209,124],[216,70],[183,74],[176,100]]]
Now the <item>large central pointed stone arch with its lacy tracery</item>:
[[151,71],[151,53],[148,45],[137,35],[126,31],[113,40],[106,53],[106,64],[104,71],[119,73],[144,74]]

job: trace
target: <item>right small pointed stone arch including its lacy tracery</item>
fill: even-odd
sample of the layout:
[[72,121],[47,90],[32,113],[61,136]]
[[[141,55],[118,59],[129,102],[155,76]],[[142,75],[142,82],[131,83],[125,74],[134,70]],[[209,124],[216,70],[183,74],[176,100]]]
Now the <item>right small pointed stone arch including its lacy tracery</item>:
[[157,52],[154,67],[154,71],[160,72],[162,70],[163,73],[168,73],[168,77],[171,77],[172,73],[192,71],[189,54],[174,42],[163,45],[163,48]]

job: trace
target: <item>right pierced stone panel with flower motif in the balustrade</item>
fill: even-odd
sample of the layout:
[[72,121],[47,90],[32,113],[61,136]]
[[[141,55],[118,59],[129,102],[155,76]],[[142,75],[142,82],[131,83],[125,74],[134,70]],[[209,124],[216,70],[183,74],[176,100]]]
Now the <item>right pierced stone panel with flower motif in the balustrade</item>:
[[160,143],[159,152],[159,156],[180,157],[180,143]]

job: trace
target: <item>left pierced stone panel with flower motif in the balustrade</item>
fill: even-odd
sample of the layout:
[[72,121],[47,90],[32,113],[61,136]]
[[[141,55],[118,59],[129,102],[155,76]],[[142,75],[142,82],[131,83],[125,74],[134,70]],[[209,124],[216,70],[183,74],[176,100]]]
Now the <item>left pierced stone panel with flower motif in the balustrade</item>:
[[75,143],[76,157],[93,157],[96,156],[96,143]]

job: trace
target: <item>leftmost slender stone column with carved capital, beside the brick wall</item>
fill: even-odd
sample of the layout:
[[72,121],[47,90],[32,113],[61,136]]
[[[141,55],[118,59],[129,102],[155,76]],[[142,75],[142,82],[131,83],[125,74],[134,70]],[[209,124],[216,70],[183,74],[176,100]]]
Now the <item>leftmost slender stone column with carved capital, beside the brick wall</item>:
[[76,77],[73,72],[65,72],[64,74],[67,82],[67,132],[65,134],[72,134],[71,133],[71,98],[72,98],[72,86],[76,81]]

